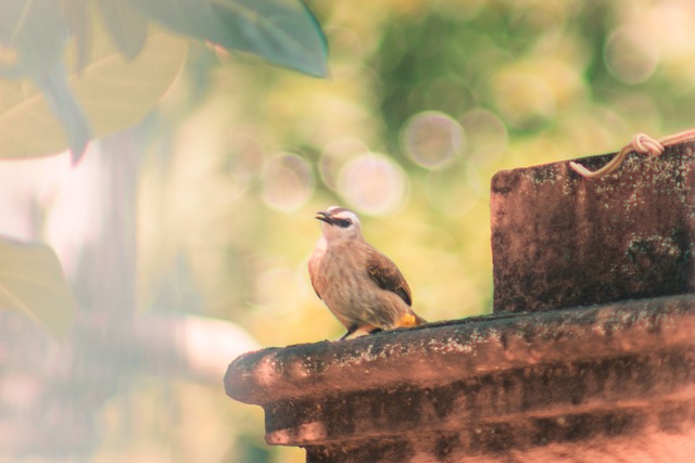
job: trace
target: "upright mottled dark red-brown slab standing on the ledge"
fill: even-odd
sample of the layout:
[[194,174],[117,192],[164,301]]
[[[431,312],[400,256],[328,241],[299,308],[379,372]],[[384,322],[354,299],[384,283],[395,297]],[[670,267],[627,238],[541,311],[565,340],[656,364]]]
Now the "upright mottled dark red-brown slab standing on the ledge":
[[[695,290],[695,144],[631,154],[583,179],[567,162],[492,180],[494,311],[551,310]],[[595,169],[612,155],[580,159]]]

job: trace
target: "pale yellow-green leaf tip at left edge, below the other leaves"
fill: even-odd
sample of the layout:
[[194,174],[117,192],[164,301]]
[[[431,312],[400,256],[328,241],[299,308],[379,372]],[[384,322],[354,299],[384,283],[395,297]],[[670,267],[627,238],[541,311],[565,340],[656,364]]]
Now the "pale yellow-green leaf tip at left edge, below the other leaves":
[[75,298],[53,249],[0,237],[0,309],[20,311],[54,336],[67,332]]

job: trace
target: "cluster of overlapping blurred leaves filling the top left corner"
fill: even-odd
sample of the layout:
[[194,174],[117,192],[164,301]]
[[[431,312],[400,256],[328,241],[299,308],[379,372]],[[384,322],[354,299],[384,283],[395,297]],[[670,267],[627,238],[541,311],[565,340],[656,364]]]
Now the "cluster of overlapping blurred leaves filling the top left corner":
[[17,80],[0,86],[0,157],[68,146],[76,163],[92,137],[141,120],[186,60],[170,31],[326,75],[326,39],[301,0],[5,1],[0,77]]

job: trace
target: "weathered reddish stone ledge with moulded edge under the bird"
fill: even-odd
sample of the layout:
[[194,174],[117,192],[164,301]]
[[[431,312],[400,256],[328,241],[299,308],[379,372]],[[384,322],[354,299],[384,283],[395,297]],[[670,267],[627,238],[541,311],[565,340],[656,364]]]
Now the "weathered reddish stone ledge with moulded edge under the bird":
[[247,353],[225,386],[312,462],[685,461],[693,333],[691,295],[493,314]]

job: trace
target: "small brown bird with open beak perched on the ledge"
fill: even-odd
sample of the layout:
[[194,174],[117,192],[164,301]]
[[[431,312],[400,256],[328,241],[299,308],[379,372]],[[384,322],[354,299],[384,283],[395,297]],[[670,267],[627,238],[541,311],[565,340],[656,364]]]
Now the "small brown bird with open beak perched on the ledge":
[[321,236],[308,273],[316,295],[348,330],[340,340],[427,323],[413,311],[401,270],[363,237],[355,213],[331,206],[315,218],[321,221]]

